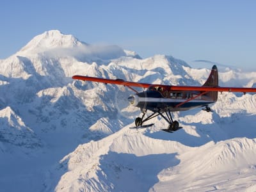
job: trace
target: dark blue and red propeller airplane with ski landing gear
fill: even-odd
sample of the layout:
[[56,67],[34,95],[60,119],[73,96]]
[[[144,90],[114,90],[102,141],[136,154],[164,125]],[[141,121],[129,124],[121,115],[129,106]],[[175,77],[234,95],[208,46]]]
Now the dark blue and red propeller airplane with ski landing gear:
[[[209,107],[218,100],[218,92],[256,92],[256,88],[221,87],[218,85],[218,68],[213,65],[207,81],[202,86],[173,86],[165,84],[148,84],[124,81],[123,79],[104,79],[88,76],[73,76],[72,79],[82,81],[93,81],[105,84],[119,84],[131,89],[134,94],[127,98],[132,106],[141,109],[142,116],[135,119],[135,128],[150,127],[154,124],[143,125],[156,116],[162,116],[168,122],[168,128],[162,129],[166,132],[177,131],[179,122],[173,120],[171,112],[186,111],[193,108],[203,108],[212,111]],[[147,88],[138,92],[132,87]],[[147,111],[152,113],[145,117]]]

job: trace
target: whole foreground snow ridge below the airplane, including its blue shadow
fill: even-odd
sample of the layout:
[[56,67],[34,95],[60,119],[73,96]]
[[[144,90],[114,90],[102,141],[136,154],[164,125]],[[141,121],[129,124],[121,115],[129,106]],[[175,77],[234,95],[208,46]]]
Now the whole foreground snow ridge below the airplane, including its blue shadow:
[[[214,186],[231,190],[254,185],[255,139],[209,142],[195,148],[124,129],[120,132],[125,133],[115,134],[117,138],[81,145],[65,157],[62,166],[68,172],[56,190],[207,191]],[[246,183],[239,181],[241,177],[248,179]],[[239,188],[230,188],[233,184]]]

